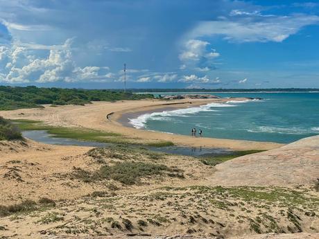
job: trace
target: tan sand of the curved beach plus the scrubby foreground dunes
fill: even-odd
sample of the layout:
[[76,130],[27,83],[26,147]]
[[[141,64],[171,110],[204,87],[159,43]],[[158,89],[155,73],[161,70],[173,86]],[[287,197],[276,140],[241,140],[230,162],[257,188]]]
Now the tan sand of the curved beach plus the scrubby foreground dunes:
[[[236,150],[273,149],[209,166],[198,158],[157,154],[139,147],[92,149],[30,140],[0,141],[0,215],[7,213],[0,217],[0,236],[128,238],[146,233],[150,236],[135,238],[318,238],[319,201],[314,186],[319,136],[279,148],[277,143],[194,140],[118,122],[124,114],[209,102],[216,100],[178,100],[169,105],[160,100],[129,100],[0,112],[6,118],[117,132],[130,139]],[[107,114],[111,114],[109,119]],[[120,180],[132,170],[126,170],[127,163],[148,163],[166,170],[125,184]],[[124,174],[110,177],[112,171],[108,171],[106,177],[96,177],[104,172],[103,166],[119,166],[123,171],[114,172]],[[55,206],[43,204],[42,197],[54,200]],[[36,208],[17,211],[24,200],[35,201]],[[300,231],[304,233],[292,234]],[[256,235],[269,232],[286,234]]]

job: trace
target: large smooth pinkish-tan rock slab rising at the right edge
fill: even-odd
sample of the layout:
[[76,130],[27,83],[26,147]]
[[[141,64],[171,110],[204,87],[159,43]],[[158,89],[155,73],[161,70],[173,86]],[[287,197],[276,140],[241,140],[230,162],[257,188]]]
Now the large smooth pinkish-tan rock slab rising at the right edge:
[[211,180],[222,186],[315,186],[318,178],[319,136],[312,136],[221,163]]

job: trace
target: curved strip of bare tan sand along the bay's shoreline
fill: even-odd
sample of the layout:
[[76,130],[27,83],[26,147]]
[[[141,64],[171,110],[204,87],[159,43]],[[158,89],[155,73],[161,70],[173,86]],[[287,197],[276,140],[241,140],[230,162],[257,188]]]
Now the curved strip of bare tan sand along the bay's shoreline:
[[[128,112],[141,112],[165,107],[194,107],[196,105],[205,105],[207,103],[225,103],[227,100],[229,99],[171,100],[169,103],[162,100],[125,100],[118,101],[116,103],[94,102],[85,106],[67,105],[60,107],[45,107],[44,109],[17,109],[13,111],[0,111],[0,116],[5,118],[26,118],[39,120],[50,125],[85,127],[105,132],[116,132],[123,134],[123,136],[126,136],[130,139],[173,141],[173,143],[178,145],[187,145],[192,147],[202,146],[207,148],[230,148],[232,150],[269,150],[278,148],[282,145],[279,143],[212,139],[205,137],[194,139],[191,136],[179,134],[166,134],[162,132],[137,130],[132,127],[123,126],[117,121],[119,118],[121,118],[122,114]],[[233,100],[243,100],[243,98],[236,98]],[[114,114],[112,114],[110,120],[107,120],[107,114],[113,112]]]

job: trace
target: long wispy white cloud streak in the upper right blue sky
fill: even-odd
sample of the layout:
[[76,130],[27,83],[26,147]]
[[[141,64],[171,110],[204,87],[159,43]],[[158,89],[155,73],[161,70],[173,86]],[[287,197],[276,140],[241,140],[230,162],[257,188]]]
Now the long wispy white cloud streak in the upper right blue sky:
[[[236,19],[202,21],[191,30],[187,38],[221,35],[232,42],[282,42],[304,26],[319,24],[319,17],[316,15],[273,16],[257,13],[236,10],[232,13],[239,15]],[[254,14],[257,16],[253,16]]]

